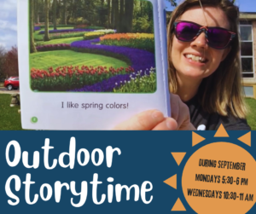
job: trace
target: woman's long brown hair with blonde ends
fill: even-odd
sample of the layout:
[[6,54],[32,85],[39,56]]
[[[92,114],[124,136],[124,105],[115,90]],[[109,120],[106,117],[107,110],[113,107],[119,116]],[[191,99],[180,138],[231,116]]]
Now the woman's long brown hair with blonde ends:
[[[230,31],[236,32],[236,38],[230,43],[230,53],[220,63],[211,76],[204,78],[198,90],[201,106],[208,113],[218,113],[227,116],[229,113],[244,119],[247,105],[241,88],[240,40],[238,32],[239,9],[229,0],[201,0],[202,6],[222,9],[230,22]],[[172,40],[174,37],[174,22],[186,10],[200,6],[198,0],[186,0],[172,12],[168,25],[168,62],[169,83],[172,93],[177,93],[176,69],[172,64]]]

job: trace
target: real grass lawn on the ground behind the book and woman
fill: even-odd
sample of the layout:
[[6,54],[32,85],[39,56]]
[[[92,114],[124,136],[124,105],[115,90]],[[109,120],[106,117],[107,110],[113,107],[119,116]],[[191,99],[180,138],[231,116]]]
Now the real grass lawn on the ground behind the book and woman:
[[[20,124],[20,107],[9,107],[10,95],[0,94],[0,130],[22,130]],[[247,117],[247,122],[252,130],[256,130],[256,100],[246,99],[251,107],[251,113]]]

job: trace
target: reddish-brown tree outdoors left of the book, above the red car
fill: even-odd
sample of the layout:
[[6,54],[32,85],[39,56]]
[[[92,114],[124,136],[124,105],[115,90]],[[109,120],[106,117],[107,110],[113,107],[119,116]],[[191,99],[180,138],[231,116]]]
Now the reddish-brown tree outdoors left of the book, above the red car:
[[6,77],[19,76],[18,49],[16,46],[7,52],[3,71]]

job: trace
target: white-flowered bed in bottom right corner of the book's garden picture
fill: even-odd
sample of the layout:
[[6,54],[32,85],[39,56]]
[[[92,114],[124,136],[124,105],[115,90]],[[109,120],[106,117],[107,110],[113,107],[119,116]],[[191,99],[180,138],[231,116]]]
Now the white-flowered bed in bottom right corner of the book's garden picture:
[[[144,75],[143,75],[144,74]],[[134,77],[135,76],[135,77]],[[149,74],[139,71],[136,75],[130,75],[131,80],[120,81],[113,92],[116,93],[153,93],[156,90],[155,68],[151,68]]]

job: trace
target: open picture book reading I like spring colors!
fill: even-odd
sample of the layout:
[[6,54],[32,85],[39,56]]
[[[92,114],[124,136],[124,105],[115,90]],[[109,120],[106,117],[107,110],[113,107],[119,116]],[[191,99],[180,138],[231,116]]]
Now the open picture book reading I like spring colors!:
[[21,122],[110,130],[170,115],[164,0],[18,0]]

